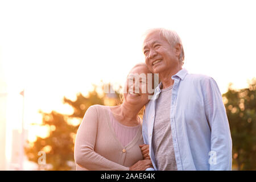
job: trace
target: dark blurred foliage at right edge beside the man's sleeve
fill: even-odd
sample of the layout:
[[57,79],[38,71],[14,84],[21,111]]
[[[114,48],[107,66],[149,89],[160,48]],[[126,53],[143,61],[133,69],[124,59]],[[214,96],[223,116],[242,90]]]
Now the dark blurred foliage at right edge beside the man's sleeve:
[[256,79],[223,94],[233,141],[233,169],[256,170]]

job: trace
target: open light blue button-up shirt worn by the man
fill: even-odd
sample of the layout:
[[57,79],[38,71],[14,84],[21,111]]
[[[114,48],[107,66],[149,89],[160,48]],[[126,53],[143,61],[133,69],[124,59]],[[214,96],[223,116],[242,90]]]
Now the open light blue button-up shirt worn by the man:
[[[170,124],[177,170],[231,170],[232,139],[216,82],[205,75],[189,74],[184,68],[172,80]],[[155,170],[152,132],[161,85],[146,105],[142,124],[144,143],[150,146]]]

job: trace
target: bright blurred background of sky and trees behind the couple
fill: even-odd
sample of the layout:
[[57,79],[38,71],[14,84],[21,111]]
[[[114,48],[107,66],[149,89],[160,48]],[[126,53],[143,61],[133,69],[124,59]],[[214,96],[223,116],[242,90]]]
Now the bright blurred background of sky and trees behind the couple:
[[0,1],[0,170],[75,170],[86,109],[119,104],[154,27],[180,35],[185,69],[216,80],[233,170],[256,170],[255,17],[255,1]]

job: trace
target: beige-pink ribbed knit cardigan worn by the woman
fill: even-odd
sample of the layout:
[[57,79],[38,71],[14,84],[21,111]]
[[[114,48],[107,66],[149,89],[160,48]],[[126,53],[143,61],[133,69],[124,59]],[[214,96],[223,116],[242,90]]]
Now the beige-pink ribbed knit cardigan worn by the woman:
[[75,162],[77,170],[129,170],[142,160],[141,125],[133,139],[123,146],[110,121],[109,106],[88,108],[76,135]]

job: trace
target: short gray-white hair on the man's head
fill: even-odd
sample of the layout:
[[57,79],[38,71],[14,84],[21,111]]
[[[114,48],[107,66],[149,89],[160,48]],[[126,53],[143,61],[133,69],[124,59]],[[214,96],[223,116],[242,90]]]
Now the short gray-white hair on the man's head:
[[144,34],[144,36],[146,37],[147,35],[150,35],[154,32],[159,32],[160,35],[162,35],[164,38],[166,38],[167,42],[172,46],[176,46],[176,44],[180,44],[181,47],[181,53],[180,53],[180,57],[179,57],[179,61],[180,63],[184,63],[184,49],[183,49],[183,45],[181,42],[181,39],[179,37],[179,35],[177,35],[177,33],[173,30],[168,30],[166,28],[152,28],[150,30],[147,30]]

